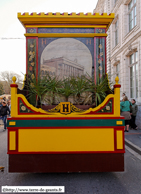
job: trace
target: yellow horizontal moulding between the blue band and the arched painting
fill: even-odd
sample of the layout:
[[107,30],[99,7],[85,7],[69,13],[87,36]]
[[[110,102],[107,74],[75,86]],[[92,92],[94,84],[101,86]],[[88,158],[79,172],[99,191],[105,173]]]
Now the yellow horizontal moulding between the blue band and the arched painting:
[[36,37],[95,37],[95,36],[107,36],[105,33],[26,33],[25,36]]

